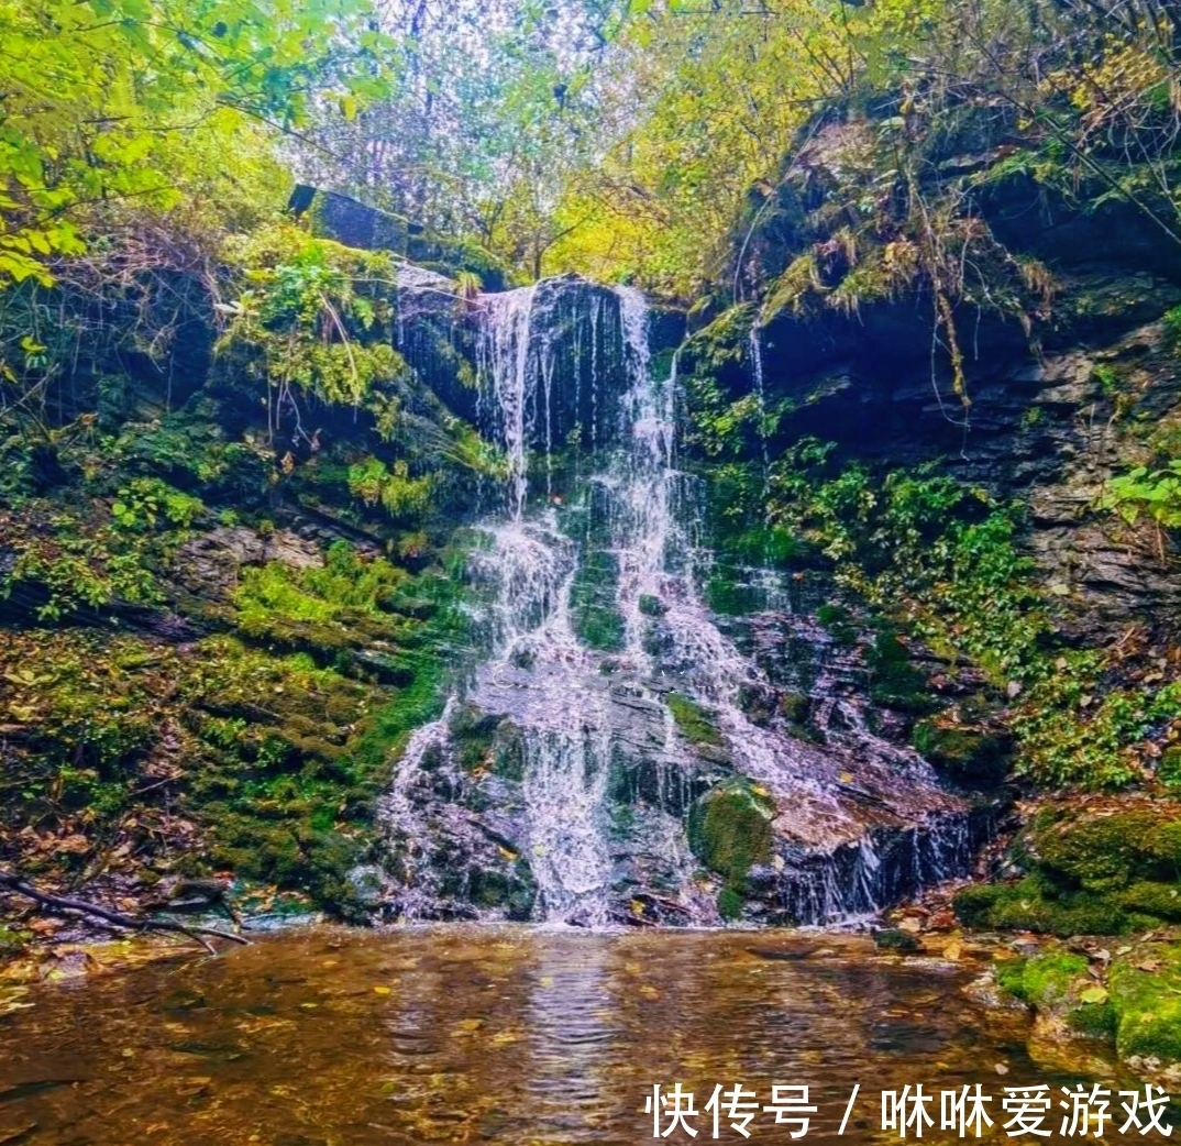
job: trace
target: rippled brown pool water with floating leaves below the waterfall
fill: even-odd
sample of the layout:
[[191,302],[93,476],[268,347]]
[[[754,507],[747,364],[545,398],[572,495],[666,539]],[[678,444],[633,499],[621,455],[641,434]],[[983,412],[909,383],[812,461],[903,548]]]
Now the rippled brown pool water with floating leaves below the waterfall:
[[[860,1083],[841,1140],[899,1141],[883,1089],[980,1082],[996,1113],[1001,1086],[1081,1081],[1030,1062],[1024,1018],[979,1009],[970,978],[855,937],[288,933],[34,989],[0,1017],[0,1144],[637,1144],[653,1083],[678,1081],[699,1111],[716,1083],[759,1103],[809,1085],[807,1141],[837,1139]],[[925,1140],[955,1140],[938,1098],[935,1118]],[[772,1114],[749,1131],[792,1141]],[[744,1140],[726,1120],[720,1138]]]

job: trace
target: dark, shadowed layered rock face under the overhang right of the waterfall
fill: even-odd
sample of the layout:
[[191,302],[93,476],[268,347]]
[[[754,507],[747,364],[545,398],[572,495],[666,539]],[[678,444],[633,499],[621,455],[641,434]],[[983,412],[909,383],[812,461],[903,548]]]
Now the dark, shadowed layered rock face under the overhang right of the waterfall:
[[1027,549],[1078,639],[1102,644],[1133,616],[1167,625],[1181,586],[1157,538],[1094,509],[1113,474],[1176,454],[1181,369],[1160,320],[1181,304],[1181,248],[1131,208],[1081,215],[1023,181],[980,209],[1011,249],[1045,261],[1051,317],[1027,334],[963,308],[965,406],[932,353],[927,299],[869,304],[853,319],[779,314],[761,332],[761,366],[768,401],[794,406],[782,432],[835,442],[849,461],[935,462],[1027,503]]

